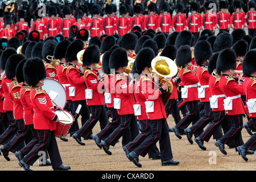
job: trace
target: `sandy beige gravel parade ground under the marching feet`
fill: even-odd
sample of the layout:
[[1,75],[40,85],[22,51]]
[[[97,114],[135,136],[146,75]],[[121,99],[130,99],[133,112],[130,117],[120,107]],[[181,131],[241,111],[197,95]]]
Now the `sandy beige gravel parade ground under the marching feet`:
[[[174,126],[174,119],[171,117],[167,120],[170,127]],[[246,122],[246,119],[243,121]],[[79,121],[79,123],[81,123]],[[99,123],[93,129],[93,134],[100,131]],[[178,139],[174,133],[169,133],[171,138],[172,153],[174,160],[180,162],[179,166],[162,166],[160,160],[140,157],[139,161],[142,168],[136,167],[126,158],[122,150],[121,140],[110,147],[112,155],[107,155],[104,150],[96,146],[94,140],[82,140],[85,146],[79,145],[72,137],[67,135],[68,142],[63,142],[59,138],[61,158],[64,166],[71,166],[72,171],[255,171],[256,155],[247,155],[248,162],[245,162],[234,148],[225,147],[228,155],[224,155],[214,145],[216,140],[210,139],[204,146],[206,151],[201,150],[194,142],[190,144],[187,137],[183,135]],[[246,142],[250,135],[245,129],[242,130],[243,141]],[[193,138],[194,139],[194,138]],[[13,153],[9,154],[10,162],[7,162],[3,156],[0,156],[0,171],[23,171],[19,167],[18,160]],[[52,171],[51,167],[39,167],[38,162],[30,167],[34,171]]]

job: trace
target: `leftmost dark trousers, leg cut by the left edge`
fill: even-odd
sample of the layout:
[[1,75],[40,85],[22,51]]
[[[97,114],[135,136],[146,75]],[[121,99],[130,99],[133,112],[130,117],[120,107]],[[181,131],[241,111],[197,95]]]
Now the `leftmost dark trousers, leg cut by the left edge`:
[[11,140],[14,137],[16,131],[18,130],[18,125],[16,124],[16,121],[13,117],[13,111],[6,111],[6,115],[10,122],[10,125],[7,127],[5,132],[0,136],[0,144],[2,145],[9,142],[9,140]]

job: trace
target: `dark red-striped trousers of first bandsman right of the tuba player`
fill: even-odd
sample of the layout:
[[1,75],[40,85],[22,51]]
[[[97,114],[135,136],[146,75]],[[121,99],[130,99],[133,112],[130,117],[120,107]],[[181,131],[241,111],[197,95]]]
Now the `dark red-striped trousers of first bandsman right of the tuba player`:
[[198,101],[188,101],[186,103],[189,113],[176,125],[177,129],[181,131],[184,131],[191,123],[194,125],[200,119]]

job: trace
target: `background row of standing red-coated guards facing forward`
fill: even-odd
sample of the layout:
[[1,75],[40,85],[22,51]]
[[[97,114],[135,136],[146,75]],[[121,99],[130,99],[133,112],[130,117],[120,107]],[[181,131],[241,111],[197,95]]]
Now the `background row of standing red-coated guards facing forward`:
[[[171,31],[183,31],[190,30],[195,39],[199,38],[199,33],[204,28],[214,30],[229,31],[230,28],[245,28],[248,27],[249,35],[256,35],[256,20],[254,18],[255,1],[249,1],[247,3],[249,11],[245,14],[242,11],[241,0],[233,1],[233,7],[235,12],[231,15],[227,12],[228,3],[224,0],[219,3],[219,13],[212,13],[210,3],[205,2],[205,14],[201,15],[199,10],[199,4],[192,2],[190,11],[192,15],[186,17],[183,13],[184,4],[183,2],[177,2],[176,15],[172,16],[168,12],[170,11],[170,5],[163,3],[160,9],[161,14],[155,14],[157,10],[156,4],[151,2],[148,7],[148,15],[142,15],[142,5],[137,3],[133,7],[134,16],[131,17],[131,7],[129,5],[121,5],[119,7],[118,17],[117,7],[114,4],[106,4],[104,13],[105,16],[101,16],[101,7],[98,5],[92,6],[90,13],[92,18],[88,17],[88,6],[82,5],[77,10],[73,10],[71,6],[64,6],[63,10],[60,10],[58,6],[50,6],[47,8],[47,15],[39,15],[38,10],[35,11],[35,21],[30,25],[24,22],[25,12],[20,10],[18,12],[18,19],[20,22],[16,23],[15,26],[11,23],[11,17],[1,18],[1,37],[10,39],[20,30],[38,30],[40,32],[41,39],[47,38],[47,36],[56,36],[57,34],[63,34],[64,38],[68,38],[69,28],[72,25],[81,28],[86,28],[90,32],[90,37],[101,36],[103,34],[108,35],[124,35],[127,32],[131,32],[134,26],[141,27],[142,31],[147,29],[153,29],[155,31],[162,31],[164,33],[170,33]],[[3,10],[2,10],[3,11]],[[1,13],[3,15],[10,15],[8,13]],[[60,15],[63,18],[60,18]],[[4,23],[6,19],[6,22]],[[6,24],[6,27],[5,27]]]

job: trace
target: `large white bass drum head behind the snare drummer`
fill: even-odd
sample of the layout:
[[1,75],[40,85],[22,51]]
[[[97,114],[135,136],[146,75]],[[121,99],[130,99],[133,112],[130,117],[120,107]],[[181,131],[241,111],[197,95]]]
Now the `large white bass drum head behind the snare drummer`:
[[[47,94],[53,101],[53,106],[58,105],[61,106],[61,108],[65,107],[67,94],[64,87],[58,81],[53,80],[52,78],[46,78],[42,89],[46,90]],[[56,103],[56,105],[54,103]]]

